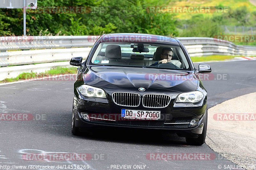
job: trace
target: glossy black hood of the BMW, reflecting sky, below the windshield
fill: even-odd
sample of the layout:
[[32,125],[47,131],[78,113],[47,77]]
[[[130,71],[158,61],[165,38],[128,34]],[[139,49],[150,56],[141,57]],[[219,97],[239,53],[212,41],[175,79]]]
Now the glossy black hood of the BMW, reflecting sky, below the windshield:
[[177,92],[195,91],[199,81],[194,71],[113,66],[87,66],[84,80],[99,88],[144,87]]

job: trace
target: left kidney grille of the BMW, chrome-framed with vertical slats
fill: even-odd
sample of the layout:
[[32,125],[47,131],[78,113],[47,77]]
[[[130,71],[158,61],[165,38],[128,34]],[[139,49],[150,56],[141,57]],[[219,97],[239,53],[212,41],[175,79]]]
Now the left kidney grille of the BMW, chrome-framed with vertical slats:
[[[118,96],[118,97],[116,97]],[[120,98],[119,98],[120,96]],[[140,105],[140,94],[132,92],[113,92],[112,99],[119,106],[138,107]],[[120,100],[119,100],[120,99]]]

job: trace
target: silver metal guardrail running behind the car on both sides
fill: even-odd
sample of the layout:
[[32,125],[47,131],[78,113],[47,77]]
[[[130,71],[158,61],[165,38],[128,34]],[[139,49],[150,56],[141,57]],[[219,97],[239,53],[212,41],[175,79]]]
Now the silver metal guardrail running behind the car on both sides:
[[[66,61],[73,56],[83,56],[85,59],[98,38],[99,36],[0,37],[0,80],[16,77],[22,72],[43,72],[54,66],[68,67]],[[185,45],[190,56],[256,55],[255,46],[239,46],[215,38],[178,39]]]

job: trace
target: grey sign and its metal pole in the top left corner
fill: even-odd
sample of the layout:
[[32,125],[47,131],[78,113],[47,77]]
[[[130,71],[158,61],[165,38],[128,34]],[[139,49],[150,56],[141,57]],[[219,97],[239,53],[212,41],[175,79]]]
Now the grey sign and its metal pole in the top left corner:
[[23,34],[26,36],[26,9],[36,9],[37,0],[0,0],[0,8],[23,8]]

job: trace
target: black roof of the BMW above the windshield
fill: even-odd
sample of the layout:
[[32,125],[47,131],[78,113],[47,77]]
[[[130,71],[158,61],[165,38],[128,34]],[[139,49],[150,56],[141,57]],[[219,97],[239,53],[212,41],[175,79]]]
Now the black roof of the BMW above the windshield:
[[178,41],[173,37],[142,34],[142,33],[110,33],[103,35],[101,42],[152,42],[152,43],[167,43],[177,44]]

